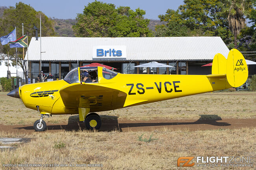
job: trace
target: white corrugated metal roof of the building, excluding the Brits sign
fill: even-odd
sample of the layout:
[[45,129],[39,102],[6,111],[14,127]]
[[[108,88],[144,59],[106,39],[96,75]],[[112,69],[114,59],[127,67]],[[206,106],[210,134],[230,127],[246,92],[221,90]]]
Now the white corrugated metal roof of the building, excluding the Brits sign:
[[[38,39],[30,41],[28,60],[40,60]],[[126,60],[212,60],[229,52],[221,37],[42,37],[42,60],[93,60],[93,46],[126,46]]]

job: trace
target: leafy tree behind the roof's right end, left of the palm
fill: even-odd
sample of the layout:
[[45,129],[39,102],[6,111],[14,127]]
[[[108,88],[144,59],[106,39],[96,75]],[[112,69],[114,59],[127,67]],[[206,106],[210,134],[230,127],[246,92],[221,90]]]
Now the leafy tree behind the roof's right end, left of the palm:
[[[178,25],[187,28],[185,36],[220,36],[228,44],[232,34],[225,19],[227,15],[221,13],[224,2],[225,0],[184,0],[184,5],[180,5],[178,10],[168,9],[165,15],[158,17],[167,22],[169,30],[172,29],[169,25]],[[173,31],[175,30],[172,29]]]

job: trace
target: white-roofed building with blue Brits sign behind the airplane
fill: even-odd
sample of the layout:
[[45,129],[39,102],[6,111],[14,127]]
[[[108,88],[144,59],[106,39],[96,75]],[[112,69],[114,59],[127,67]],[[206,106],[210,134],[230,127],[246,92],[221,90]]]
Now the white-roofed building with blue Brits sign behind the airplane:
[[[229,49],[221,37],[32,37],[25,60],[29,78],[37,78],[40,64],[44,73],[63,79],[77,66],[94,62],[117,68],[128,74],[210,74],[210,63],[216,53],[228,56]],[[40,53],[41,62],[40,63]],[[134,68],[156,61],[174,68]]]

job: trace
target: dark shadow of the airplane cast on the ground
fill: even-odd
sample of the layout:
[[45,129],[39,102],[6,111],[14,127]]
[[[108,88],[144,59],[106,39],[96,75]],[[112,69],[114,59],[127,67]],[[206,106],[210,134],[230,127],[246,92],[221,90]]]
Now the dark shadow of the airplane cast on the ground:
[[[102,131],[113,131],[120,130],[122,128],[132,128],[132,127],[146,127],[146,126],[171,126],[171,125],[189,125],[189,124],[210,124],[213,126],[230,126],[231,124],[227,122],[217,122],[222,120],[218,115],[200,115],[200,119],[195,122],[150,122],[150,123],[118,123],[116,116],[101,115],[102,125],[100,132]],[[33,130],[33,126],[21,127],[18,129]],[[86,130],[85,124],[79,121],[79,116],[70,116],[68,124],[63,125],[48,125],[47,130],[65,130],[65,131],[79,131]]]

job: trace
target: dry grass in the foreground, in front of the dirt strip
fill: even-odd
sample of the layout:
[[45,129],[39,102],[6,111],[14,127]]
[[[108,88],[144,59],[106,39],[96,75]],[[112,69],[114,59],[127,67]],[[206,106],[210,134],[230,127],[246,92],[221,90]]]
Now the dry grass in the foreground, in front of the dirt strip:
[[[102,170],[170,170],[187,169],[177,167],[177,159],[182,156],[253,156],[252,168],[210,169],[255,169],[256,129],[235,130],[163,130],[154,132],[57,132],[33,133],[31,135],[6,134],[5,137],[30,137],[32,141],[14,145],[17,149],[3,151],[2,164],[102,164],[95,167],[16,167],[14,170],[41,169],[102,169]],[[139,141],[152,136],[152,141]],[[13,144],[12,144],[13,145]],[[193,160],[195,162],[195,159]],[[209,169],[192,167],[189,169]]]

